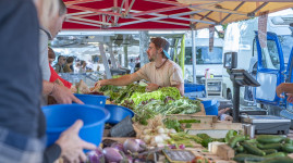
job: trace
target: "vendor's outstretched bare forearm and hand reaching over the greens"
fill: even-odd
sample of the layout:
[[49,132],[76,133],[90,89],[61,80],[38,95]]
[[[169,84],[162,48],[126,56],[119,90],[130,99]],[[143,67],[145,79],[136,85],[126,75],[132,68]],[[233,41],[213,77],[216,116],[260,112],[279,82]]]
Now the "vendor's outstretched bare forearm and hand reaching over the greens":
[[111,79],[102,79],[96,83],[96,86],[107,86],[107,85],[113,85],[113,86],[126,86],[130,85],[136,80],[142,79],[136,73],[124,75],[119,78],[111,78]]

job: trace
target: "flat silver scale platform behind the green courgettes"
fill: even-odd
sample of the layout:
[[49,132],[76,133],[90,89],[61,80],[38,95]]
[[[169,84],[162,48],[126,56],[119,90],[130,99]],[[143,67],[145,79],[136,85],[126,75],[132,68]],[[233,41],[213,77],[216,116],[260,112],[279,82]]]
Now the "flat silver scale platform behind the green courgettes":
[[273,115],[241,115],[241,122],[255,125],[255,134],[278,134],[289,133],[291,120]]

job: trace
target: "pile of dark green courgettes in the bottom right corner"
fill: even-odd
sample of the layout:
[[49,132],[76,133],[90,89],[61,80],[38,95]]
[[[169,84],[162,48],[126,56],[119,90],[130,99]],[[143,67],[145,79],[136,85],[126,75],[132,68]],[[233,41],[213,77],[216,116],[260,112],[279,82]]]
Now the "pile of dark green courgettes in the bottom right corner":
[[293,162],[288,153],[293,152],[293,140],[274,135],[259,135],[256,139],[230,130],[225,140],[234,149],[237,162],[284,163]]

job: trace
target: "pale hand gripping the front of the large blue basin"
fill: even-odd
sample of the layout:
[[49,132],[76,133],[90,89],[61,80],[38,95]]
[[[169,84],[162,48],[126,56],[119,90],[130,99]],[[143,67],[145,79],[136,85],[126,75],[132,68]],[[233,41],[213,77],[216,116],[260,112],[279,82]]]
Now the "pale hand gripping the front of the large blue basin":
[[61,156],[65,162],[85,162],[86,155],[83,149],[94,150],[97,148],[95,145],[86,142],[78,137],[80,129],[83,125],[83,121],[77,120],[56,141],[61,148]]

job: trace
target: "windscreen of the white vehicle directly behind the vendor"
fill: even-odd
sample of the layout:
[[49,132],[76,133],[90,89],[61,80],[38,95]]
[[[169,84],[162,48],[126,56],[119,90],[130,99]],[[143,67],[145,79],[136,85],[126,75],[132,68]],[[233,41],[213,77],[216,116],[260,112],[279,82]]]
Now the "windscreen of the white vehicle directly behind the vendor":
[[[196,64],[222,64],[222,47],[213,47],[209,52],[209,47],[196,47]],[[185,64],[192,62],[192,47],[185,48]]]

